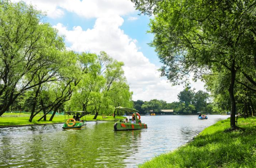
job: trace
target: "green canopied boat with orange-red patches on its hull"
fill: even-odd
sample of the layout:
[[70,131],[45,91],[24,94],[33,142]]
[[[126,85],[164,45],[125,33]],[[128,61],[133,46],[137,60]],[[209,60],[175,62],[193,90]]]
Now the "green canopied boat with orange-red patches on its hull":
[[[140,120],[140,114],[137,113],[138,111],[135,109],[131,109],[131,108],[126,108],[126,107],[116,107],[116,110],[123,110],[128,112],[128,114],[131,112],[133,113],[132,117],[135,120],[132,120],[131,122],[129,122],[130,120],[128,120],[128,122],[124,122],[123,120],[118,120],[118,122],[116,122],[114,124],[114,130],[116,131],[121,131],[121,130],[138,130],[138,129],[144,129],[144,128],[148,128],[148,126],[144,123],[141,123]],[[130,117],[130,115],[129,115]]]

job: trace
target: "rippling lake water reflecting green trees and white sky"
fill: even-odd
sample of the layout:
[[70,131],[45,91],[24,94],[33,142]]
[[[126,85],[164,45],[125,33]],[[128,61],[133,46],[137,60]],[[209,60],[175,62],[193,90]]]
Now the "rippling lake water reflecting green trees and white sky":
[[63,130],[63,124],[1,128],[0,168],[137,167],[227,117],[141,116],[148,129],[134,131],[114,131],[114,121],[87,122],[83,130]]

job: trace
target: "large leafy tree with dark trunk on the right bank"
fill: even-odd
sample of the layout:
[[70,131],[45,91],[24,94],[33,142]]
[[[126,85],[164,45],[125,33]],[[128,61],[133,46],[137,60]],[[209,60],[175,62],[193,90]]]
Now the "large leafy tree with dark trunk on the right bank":
[[256,3],[244,0],[132,1],[143,13],[155,16],[150,22],[150,32],[154,34],[151,46],[156,48],[164,64],[160,69],[162,76],[178,84],[190,73],[197,79],[213,67],[227,70],[230,126],[235,129],[236,73],[241,72],[255,83],[245,67],[250,65],[255,53]]

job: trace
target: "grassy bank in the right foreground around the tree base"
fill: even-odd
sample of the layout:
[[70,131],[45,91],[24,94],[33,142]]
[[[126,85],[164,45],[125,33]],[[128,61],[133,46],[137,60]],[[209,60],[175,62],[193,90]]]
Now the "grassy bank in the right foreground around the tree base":
[[159,155],[139,167],[255,167],[256,117],[238,119],[238,126],[244,131],[225,132],[229,126],[229,119],[218,121],[187,145]]

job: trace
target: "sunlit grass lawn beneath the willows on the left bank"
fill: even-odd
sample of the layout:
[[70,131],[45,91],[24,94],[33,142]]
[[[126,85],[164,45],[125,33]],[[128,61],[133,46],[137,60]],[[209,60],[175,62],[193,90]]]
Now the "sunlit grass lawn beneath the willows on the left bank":
[[[48,123],[58,123],[65,122],[64,115],[55,115],[53,121],[37,121],[42,115],[35,116],[32,122],[29,122],[30,113],[4,113],[0,117],[0,126],[7,125],[28,125],[28,124],[48,124]],[[51,115],[47,115],[47,120],[49,120]],[[72,118],[73,116],[69,116]],[[114,120],[114,117],[107,116],[107,119],[102,119],[99,115],[96,120],[93,120],[94,115],[86,115],[86,121],[96,121],[96,120]],[[125,119],[123,116],[116,116],[116,119]],[[67,115],[66,115],[67,120]]]

